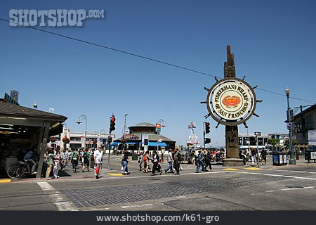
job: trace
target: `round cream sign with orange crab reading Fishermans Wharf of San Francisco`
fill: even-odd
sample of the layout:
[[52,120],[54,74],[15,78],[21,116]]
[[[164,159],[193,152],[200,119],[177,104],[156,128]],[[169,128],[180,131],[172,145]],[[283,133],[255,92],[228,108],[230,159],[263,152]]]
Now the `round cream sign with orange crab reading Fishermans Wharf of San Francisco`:
[[206,102],[214,120],[233,126],[246,122],[254,113],[256,95],[242,79],[229,77],[211,87]]

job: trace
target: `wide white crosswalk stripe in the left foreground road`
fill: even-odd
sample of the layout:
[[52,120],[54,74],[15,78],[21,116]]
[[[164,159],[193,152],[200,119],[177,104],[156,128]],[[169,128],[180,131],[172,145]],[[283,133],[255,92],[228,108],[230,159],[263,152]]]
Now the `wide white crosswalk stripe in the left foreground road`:
[[44,192],[55,191],[55,194],[48,195],[48,198],[53,200],[53,203],[58,208],[58,211],[79,211],[72,202],[66,200],[66,198],[60,194],[59,191],[55,190],[51,184],[48,184],[48,182],[37,182],[37,184]]

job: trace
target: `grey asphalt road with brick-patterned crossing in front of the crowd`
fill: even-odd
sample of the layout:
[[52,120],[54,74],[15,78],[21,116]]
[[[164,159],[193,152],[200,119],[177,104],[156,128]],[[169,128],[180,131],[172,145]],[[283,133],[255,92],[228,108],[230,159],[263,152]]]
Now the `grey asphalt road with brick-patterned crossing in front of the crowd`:
[[180,176],[150,176],[138,171],[137,162],[131,163],[130,175],[119,176],[115,157],[112,167],[117,170],[103,169],[98,180],[91,172],[73,174],[71,179],[0,184],[0,210],[316,210],[313,164],[213,166],[213,172],[199,174],[192,165],[183,165]]

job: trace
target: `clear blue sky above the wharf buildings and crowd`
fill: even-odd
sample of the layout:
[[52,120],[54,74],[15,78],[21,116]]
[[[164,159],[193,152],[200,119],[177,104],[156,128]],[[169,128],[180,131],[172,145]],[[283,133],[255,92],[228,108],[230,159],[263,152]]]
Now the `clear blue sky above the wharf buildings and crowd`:
[[[96,44],[223,77],[226,46],[235,53],[237,77],[246,75],[262,99],[251,117],[249,134],[287,133],[289,86],[291,107],[316,102],[316,1],[6,1],[10,9],[103,9],[105,18],[84,20],[83,27],[38,27]],[[172,68],[0,21],[0,96],[20,91],[19,103],[39,110],[55,108],[68,117],[71,131],[84,131],[75,121],[88,117],[88,131],[108,131],[117,117],[121,136],[127,126],[163,119],[162,135],[185,145],[191,121],[202,141],[203,122],[211,122],[211,146],[223,146],[225,128],[204,120],[204,86],[213,77]],[[239,126],[239,133],[247,130]]]

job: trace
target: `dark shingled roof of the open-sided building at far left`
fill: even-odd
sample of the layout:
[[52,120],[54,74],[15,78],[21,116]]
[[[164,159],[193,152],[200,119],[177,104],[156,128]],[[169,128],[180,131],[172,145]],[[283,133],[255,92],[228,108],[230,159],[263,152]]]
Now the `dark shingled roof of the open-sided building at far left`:
[[0,101],[0,115],[2,116],[22,116],[22,117],[37,117],[45,120],[61,120],[62,122],[67,120],[67,117],[54,113],[47,113],[41,110],[35,110],[33,108],[27,108],[20,105],[6,103]]

